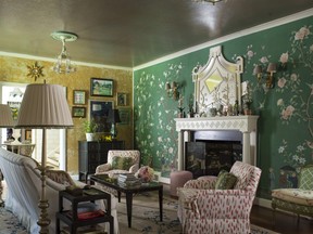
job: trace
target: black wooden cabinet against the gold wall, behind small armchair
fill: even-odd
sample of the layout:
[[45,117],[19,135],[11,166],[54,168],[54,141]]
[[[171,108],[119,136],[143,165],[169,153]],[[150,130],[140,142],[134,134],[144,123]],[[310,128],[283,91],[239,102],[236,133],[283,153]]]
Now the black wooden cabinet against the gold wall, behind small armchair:
[[87,182],[88,174],[95,173],[99,165],[108,161],[108,152],[110,150],[124,150],[124,141],[112,142],[87,142],[78,141],[79,157],[79,180]]

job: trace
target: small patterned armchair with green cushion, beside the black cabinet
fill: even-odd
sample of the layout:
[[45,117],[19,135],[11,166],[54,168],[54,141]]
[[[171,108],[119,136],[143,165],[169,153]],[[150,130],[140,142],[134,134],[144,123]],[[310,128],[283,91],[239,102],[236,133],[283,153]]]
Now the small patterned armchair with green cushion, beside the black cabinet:
[[139,169],[139,151],[109,151],[108,162],[96,168],[96,174],[136,173]]

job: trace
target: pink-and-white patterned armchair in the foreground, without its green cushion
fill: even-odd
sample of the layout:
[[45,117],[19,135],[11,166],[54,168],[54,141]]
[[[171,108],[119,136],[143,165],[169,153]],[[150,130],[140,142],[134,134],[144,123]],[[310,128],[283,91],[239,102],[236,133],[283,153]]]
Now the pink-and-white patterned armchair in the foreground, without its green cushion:
[[190,180],[178,188],[184,234],[250,233],[250,211],[261,169],[236,161],[230,173],[237,178],[231,190],[215,190],[217,177]]

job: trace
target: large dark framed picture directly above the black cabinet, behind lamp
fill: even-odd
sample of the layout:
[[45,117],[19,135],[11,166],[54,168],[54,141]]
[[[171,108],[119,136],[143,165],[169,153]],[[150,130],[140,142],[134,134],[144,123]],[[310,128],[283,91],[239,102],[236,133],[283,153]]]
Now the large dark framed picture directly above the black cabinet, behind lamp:
[[107,122],[107,119],[113,107],[113,102],[89,100],[89,119],[93,119],[98,123],[97,132],[110,132],[111,123]]

